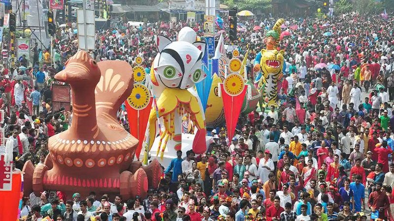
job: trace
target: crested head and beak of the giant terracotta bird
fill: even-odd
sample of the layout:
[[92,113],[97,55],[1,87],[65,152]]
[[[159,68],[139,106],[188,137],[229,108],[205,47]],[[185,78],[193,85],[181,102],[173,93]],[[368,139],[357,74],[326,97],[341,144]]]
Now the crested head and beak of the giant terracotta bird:
[[69,83],[71,86],[93,87],[99,82],[101,76],[97,62],[85,51],[78,51],[74,56],[68,58],[65,69],[55,75],[60,82]]

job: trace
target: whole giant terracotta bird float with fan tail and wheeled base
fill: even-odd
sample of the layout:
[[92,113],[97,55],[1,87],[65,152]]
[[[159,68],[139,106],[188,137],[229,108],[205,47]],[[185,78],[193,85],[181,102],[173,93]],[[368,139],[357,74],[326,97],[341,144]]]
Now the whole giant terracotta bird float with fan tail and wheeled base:
[[133,162],[138,140],[117,120],[119,107],[131,95],[131,73],[125,61],[96,63],[85,51],[67,60],[55,79],[71,86],[71,127],[49,138],[44,164],[26,162],[25,194],[56,190],[70,197],[95,191],[130,198],[145,197],[149,186],[158,186],[163,172],[159,162]]

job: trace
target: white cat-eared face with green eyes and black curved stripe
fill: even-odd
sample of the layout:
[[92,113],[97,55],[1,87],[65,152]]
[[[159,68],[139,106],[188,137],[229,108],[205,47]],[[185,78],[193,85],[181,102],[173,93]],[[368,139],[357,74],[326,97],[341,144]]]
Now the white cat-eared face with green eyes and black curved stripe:
[[171,42],[158,35],[157,45],[160,53],[156,55],[153,70],[159,84],[169,88],[188,89],[206,77],[201,69],[204,42]]

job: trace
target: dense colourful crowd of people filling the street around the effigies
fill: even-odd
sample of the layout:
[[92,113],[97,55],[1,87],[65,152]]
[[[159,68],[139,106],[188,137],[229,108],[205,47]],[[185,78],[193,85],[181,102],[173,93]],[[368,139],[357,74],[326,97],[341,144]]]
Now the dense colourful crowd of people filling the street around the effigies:
[[[48,190],[23,197],[21,220],[394,220],[393,21],[357,13],[284,18],[279,108],[242,114],[233,138],[225,125],[212,129],[204,154],[188,150],[184,159],[178,151],[147,198],[94,192],[64,198]],[[267,16],[239,26],[232,43],[241,54],[249,50],[249,80],[258,75],[254,58],[275,21]],[[141,56],[149,72],[157,54],[155,35],[176,40],[185,26],[202,35],[202,23],[190,21],[98,30],[90,53],[97,61],[130,64]],[[0,66],[2,126],[16,168],[28,160],[43,164],[48,138],[70,126],[72,111],[53,111],[51,101],[52,85],[59,84],[54,75],[78,50],[75,40],[73,28],[60,28],[52,52],[35,44],[31,64],[25,58]]]

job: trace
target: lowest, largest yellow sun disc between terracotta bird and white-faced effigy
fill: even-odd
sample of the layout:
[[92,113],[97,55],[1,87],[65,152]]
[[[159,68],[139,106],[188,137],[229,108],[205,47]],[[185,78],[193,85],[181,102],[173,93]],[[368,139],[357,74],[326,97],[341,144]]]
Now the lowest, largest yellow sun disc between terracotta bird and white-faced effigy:
[[149,104],[151,93],[148,88],[141,83],[134,83],[130,96],[127,98],[127,102],[131,108],[135,110],[142,110]]

